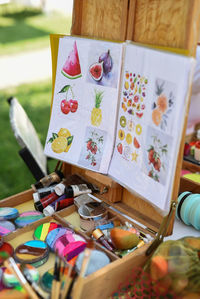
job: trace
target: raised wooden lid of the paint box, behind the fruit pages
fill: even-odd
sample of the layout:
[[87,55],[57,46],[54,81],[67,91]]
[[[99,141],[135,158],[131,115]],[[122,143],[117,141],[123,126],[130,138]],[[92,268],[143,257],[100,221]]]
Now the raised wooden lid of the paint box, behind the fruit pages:
[[[108,40],[132,40],[172,50],[182,49],[186,55],[195,56],[200,28],[198,11],[200,11],[198,0],[74,0],[71,34]],[[53,86],[54,82],[55,77]],[[171,201],[176,201],[179,190],[188,111],[189,104]],[[158,231],[163,216],[150,203],[132,195],[107,176],[66,163],[63,170],[66,175],[69,173],[82,175],[99,186],[103,193],[99,196],[102,200],[151,230]],[[106,193],[105,188],[108,189]],[[172,228],[173,220],[168,234],[171,234]]]

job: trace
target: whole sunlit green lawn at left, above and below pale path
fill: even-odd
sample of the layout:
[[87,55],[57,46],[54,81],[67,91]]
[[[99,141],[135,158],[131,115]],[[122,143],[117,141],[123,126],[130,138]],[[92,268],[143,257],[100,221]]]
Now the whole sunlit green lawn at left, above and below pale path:
[[[49,47],[50,33],[70,33],[71,16],[45,15],[40,10],[13,4],[0,9],[0,55]],[[35,182],[18,154],[20,147],[11,130],[6,99],[12,95],[24,107],[44,145],[50,115],[51,80],[0,90],[0,199],[29,189]],[[55,165],[55,160],[50,161],[50,171]]]

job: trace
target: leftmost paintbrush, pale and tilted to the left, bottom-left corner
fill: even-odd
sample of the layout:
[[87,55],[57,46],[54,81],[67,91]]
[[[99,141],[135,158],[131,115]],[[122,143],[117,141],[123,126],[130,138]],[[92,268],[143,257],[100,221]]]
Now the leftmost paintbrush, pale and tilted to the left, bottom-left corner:
[[22,274],[17,264],[15,263],[15,260],[12,257],[5,260],[4,265],[10,270],[11,273],[13,273],[18,278],[21,286],[27,291],[27,293],[32,299],[39,299],[39,297],[32,289],[30,284],[27,282],[26,278],[24,277],[24,275]]

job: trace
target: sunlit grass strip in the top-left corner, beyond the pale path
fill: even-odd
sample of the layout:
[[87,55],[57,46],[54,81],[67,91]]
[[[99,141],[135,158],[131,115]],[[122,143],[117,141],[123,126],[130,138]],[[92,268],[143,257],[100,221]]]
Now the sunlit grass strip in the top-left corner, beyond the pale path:
[[0,14],[0,55],[49,47],[49,34],[69,34],[71,16],[10,5]]

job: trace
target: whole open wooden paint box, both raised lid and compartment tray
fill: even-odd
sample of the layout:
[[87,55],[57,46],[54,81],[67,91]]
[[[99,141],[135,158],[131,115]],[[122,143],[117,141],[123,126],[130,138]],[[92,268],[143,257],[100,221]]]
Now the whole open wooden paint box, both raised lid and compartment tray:
[[[71,34],[106,40],[131,40],[140,44],[154,45],[157,48],[167,47],[175,51],[181,49],[181,53],[194,56],[199,37],[199,11],[198,0],[74,0]],[[54,50],[52,60],[53,65],[56,66],[58,45]],[[53,88],[54,83],[55,69],[53,69]],[[189,103],[186,111],[188,108]],[[138,195],[133,195],[108,176],[83,170],[68,163],[64,163],[62,167],[66,178],[76,174],[99,188],[100,193],[95,196],[105,202],[110,217],[116,216],[122,222],[126,221],[126,216],[131,217],[128,221],[144,233],[150,234],[153,239],[156,238],[161,223],[165,221],[163,230],[159,232],[158,241],[154,243],[155,248],[162,241],[162,234],[171,234],[173,231],[174,203],[179,190],[187,113],[183,117],[184,128],[176,161],[175,179],[171,182],[173,184],[172,195],[169,199],[171,209],[166,217],[162,216],[150,203],[142,200]],[[30,189],[4,199],[0,202],[0,207],[16,207],[20,212],[31,210],[33,209],[32,193],[33,190]],[[24,235],[27,238],[36,226],[51,219],[64,226],[73,226],[76,231],[79,231],[77,224],[70,224],[70,215],[73,213],[76,213],[74,206],[55,212],[52,217],[45,217],[9,234],[5,237],[5,241],[16,246],[19,243],[19,236]],[[84,236],[88,238],[87,234]],[[97,248],[105,250],[110,255],[112,262],[84,278],[78,286],[77,295],[73,298],[108,298],[116,291],[120,283],[124,283],[127,277],[131,276],[134,267],[145,264],[148,258],[146,251],[150,244],[145,244],[120,259],[96,243]],[[44,269],[41,270],[43,271]]]

